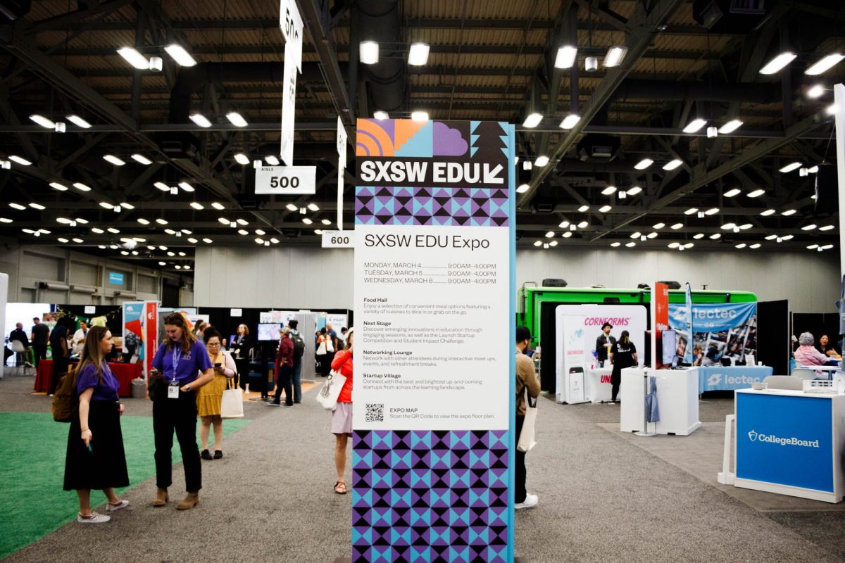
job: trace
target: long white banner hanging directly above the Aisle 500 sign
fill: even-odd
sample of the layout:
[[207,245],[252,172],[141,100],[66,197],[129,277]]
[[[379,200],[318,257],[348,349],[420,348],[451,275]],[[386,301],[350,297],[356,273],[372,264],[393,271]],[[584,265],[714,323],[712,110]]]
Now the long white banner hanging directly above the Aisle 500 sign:
[[281,0],[279,27],[285,37],[284,91],[281,99],[281,160],[293,165],[293,116],[297,102],[297,70],[303,69],[303,19],[295,0]]

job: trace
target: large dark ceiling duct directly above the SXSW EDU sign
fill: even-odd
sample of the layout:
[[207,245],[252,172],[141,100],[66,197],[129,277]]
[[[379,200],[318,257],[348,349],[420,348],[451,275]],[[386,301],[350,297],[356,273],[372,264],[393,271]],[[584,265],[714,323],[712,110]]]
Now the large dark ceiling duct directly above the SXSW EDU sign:
[[352,8],[357,12],[361,41],[379,43],[379,62],[362,67],[371,107],[388,113],[401,111],[405,105],[406,53],[399,5],[396,0],[358,0]]

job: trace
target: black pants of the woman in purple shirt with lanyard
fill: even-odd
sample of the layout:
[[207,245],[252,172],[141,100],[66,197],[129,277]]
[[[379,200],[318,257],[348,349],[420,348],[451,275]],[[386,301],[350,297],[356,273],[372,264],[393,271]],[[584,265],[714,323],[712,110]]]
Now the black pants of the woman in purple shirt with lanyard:
[[203,488],[202,467],[197,447],[197,396],[193,391],[179,392],[179,398],[167,398],[167,385],[160,383],[153,401],[153,435],[155,436],[155,485],[166,489],[172,485],[173,430],[182,450],[185,469],[185,490],[195,493]]

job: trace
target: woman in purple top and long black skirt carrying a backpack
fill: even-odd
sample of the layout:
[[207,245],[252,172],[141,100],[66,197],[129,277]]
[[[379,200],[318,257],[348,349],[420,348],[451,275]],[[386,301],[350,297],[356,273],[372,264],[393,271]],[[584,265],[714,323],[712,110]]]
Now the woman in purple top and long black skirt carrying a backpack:
[[114,494],[115,487],[129,485],[120,415],[123,404],[117,398],[120,384],[106,363],[112,349],[112,333],[105,327],[91,327],[85,337],[76,369],[76,393],[79,417],[71,420],[68,452],[64,463],[64,490],[76,490],[79,496],[77,522],[99,524],[111,517],[91,510],[91,489],[101,489],[108,497],[106,511],[125,508]]

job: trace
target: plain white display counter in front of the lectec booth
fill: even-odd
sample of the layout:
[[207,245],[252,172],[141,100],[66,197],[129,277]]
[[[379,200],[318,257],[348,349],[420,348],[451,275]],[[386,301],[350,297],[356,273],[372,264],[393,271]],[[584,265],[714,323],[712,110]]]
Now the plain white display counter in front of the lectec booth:
[[[657,403],[660,420],[646,428],[646,381],[657,377]],[[619,430],[623,432],[654,432],[689,436],[701,427],[698,420],[698,371],[643,370],[631,367],[622,370],[622,400],[619,409]]]

